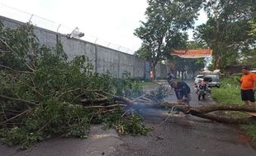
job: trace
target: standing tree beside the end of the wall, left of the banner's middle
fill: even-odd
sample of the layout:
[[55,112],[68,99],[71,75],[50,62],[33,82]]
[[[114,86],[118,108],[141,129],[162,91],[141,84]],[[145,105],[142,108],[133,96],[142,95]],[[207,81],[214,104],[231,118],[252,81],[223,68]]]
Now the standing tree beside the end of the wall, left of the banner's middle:
[[135,35],[142,39],[136,55],[147,59],[153,71],[173,48],[184,48],[185,30],[192,28],[201,7],[201,0],[148,0],[146,21],[141,21]]

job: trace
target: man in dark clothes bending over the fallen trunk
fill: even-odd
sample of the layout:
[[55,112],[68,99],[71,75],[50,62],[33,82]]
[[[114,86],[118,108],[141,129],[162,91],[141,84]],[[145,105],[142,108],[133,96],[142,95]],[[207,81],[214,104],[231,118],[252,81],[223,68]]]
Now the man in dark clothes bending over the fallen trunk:
[[189,101],[191,100],[191,89],[184,81],[172,81],[171,87],[174,89],[178,102],[186,101],[187,105],[189,105]]

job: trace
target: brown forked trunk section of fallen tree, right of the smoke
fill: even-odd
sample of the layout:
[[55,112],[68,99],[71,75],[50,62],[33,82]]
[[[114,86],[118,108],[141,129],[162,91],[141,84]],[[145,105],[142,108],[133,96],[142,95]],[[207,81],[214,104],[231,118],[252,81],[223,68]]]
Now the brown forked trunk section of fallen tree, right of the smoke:
[[256,123],[256,117],[228,117],[223,115],[223,113],[212,113],[216,111],[239,111],[239,112],[256,112],[256,108],[253,106],[245,106],[245,105],[220,105],[220,104],[212,104],[212,105],[204,105],[199,107],[188,107],[183,103],[160,103],[161,106],[168,108],[176,108],[178,111],[183,112],[185,114],[191,114],[192,116],[201,117],[205,119],[210,119],[216,122],[223,123],[233,123],[233,124],[249,124]]

